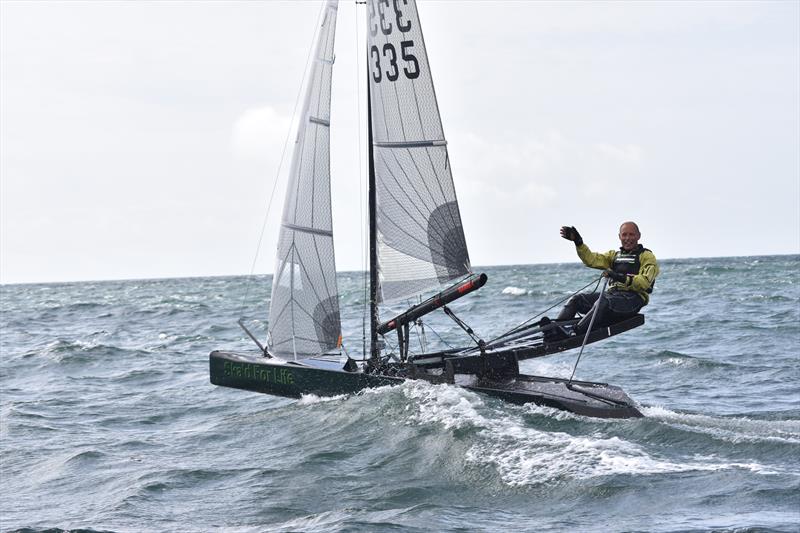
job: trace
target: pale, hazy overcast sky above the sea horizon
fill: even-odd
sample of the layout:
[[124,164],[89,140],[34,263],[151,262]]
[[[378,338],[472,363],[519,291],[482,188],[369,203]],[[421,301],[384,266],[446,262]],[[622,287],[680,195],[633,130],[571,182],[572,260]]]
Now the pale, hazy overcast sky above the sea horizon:
[[[418,3],[473,265],[577,261],[560,226],[605,251],[625,220],[659,258],[800,253],[800,2]],[[0,283],[271,273],[320,5],[1,1]],[[359,270],[364,6],[338,18]]]

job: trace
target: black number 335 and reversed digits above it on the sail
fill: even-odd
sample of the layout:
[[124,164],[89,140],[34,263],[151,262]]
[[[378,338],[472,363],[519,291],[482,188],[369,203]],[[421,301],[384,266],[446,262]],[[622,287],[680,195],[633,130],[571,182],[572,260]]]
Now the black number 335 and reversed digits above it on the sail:
[[[407,3],[407,0],[391,0],[391,3],[390,0],[377,0],[376,13],[375,4],[369,2],[370,35],[375,37],[378,31],[383,35],[391,35],[395,28],[403,33],[411,30],[411,21],[403,15],[403,7]],[[419,62],[414,55],[414,41],[400,41],[399,53],[392,43],[386,43],[380,48],[374,44],[369,49],[369,57],[372,79],[375,83],[380,83],[384,79],[397,81],[401,71],[398,59],[404,62],[402,72],[406,78],[413,80],[419,77]]]

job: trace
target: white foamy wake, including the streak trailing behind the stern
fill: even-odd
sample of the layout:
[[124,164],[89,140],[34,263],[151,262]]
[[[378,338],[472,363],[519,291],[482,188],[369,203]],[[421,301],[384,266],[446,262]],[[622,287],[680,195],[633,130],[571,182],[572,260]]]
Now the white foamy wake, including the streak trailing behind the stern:
[[[509,487],[603,476],[728,469],[755,474],[779,473],[758,462],[742,462],[716,455],[667,457],[664,452],[650,450],[645,444],[612,434],[624,434],[636,425],[652,423],[648,419],[597,420],[547,407],[510,407],[463,389],[424,382],[407,382],[398,389],[409,402],[404,410],[406,425],[433,427],[448,433],[454,440],[466,441],[467,466],[483,471],[491,467],[499,482]],[[387,393],[392,394],[390,390]],[[768,427],[771,429],[767,429],[766,436],[761,438],[795,442],[800,437],[800,428],[794,421],[780,422],[775,426],[768,421],[680,415],[663,408],[648,408],[646,416],[659,423],[677,423],[700,432],[719,435],[727,432],[730,438],[739,440],[758,438]],[[552,424],[549,428],[542,427],[548,425],[541,423],[542,418],[557,422],[555,427],[560,430],[553,430]],[[575,421],[580,421],[580,424],[574,424]],[[588,434],[576,434],[587,430]]]

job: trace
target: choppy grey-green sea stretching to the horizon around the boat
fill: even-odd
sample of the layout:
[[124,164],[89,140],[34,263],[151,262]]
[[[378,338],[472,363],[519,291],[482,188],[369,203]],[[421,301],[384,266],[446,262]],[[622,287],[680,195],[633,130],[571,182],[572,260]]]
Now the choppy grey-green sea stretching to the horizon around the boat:
[[[483,339],[597,285],[573,263],[475,270],[488,283],[451,307]],[[361,358],[364,277],[338,281]],[[270,284],[0,287],[0,530],[800,531],[800,256],[662,261],[646,323],[576,369],[622,387],[630,420],[424,382],[211,385],[209,352],[256,349],[240,317],[265,337]],[[423,328],[412,351],[472,342],[441,311]],[[521,367],[569,377],[577,355]]]

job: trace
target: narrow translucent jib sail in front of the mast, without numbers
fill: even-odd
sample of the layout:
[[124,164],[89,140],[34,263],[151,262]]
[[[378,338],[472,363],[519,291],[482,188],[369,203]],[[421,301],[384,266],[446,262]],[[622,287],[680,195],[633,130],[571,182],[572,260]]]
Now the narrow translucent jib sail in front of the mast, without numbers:
[[278,238],[268,348],[287,359],[326,352],[341,338],[330,185],[337,7],[327,1],[317,33]]

